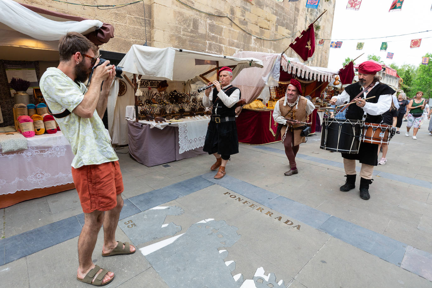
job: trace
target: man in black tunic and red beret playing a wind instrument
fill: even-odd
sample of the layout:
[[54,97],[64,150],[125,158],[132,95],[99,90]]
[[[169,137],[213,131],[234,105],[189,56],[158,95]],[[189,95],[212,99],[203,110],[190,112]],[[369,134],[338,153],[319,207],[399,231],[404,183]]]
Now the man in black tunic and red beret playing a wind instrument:
[[[238,153],[237,126],[235,124],[236,103],[240,100],[240,89],[232,86],[232,70],[224,66],[219,70],[219,81],[213,81],[215,88],[207,89],[203,105],[209,107],[213,102],[212,117],[207,128],[203,151],[213,154],[216,162],[210,170],[219,168],[215,179],[222,178],[230,155]],[[220,89],[220,91],[218,91]],[[208,96],[207,96],[208,95]]]

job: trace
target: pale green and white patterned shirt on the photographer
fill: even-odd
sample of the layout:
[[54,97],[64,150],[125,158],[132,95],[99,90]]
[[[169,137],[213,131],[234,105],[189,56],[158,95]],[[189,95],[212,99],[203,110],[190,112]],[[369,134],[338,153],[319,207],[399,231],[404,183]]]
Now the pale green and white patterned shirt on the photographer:
[[[83,101],[86,86],[73,82],[61,70],[50,67],[41,77],[42,95],[53,114],[65,109],[73,111]],[[55,119],[75,155],[73,168],[83,165],[95,165],[117,161],[118,157],[111,146],[108,130],[105,129],[98,112],[93,117],[83,118],[71,113],[63,118]]]

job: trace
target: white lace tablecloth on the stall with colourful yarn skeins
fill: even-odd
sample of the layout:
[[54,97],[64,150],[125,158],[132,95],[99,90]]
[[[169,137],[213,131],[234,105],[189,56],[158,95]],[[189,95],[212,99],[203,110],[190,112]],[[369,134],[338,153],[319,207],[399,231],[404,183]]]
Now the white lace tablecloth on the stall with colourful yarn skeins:
[[73,183],[73,153],[61,131],[28,138],[27,147],[7,153],[0,149],[0,195]]

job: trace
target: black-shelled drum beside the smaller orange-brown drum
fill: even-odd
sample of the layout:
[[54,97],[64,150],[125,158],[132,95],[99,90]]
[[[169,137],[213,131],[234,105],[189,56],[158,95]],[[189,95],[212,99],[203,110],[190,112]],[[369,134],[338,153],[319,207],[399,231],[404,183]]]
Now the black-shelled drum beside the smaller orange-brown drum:
[[362,120],[324,118],[321,149],[350,154],[359,153]]

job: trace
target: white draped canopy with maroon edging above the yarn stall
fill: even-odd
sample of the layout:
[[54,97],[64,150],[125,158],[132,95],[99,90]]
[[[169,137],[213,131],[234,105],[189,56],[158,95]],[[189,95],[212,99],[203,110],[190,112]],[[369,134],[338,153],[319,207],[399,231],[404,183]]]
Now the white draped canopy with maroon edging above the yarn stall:
[[[0,7],[0,58],[3,60],[58,60],[58,40],[67,32],[88,35],[102,27],[105,31],[105,27],[111,27],[99,20],[65,15],[13,0],[0,0]],[[107,34],[105,32],[104,36],[111,38],[112,35]],[[108,40],[103,41],[106,42]]]

